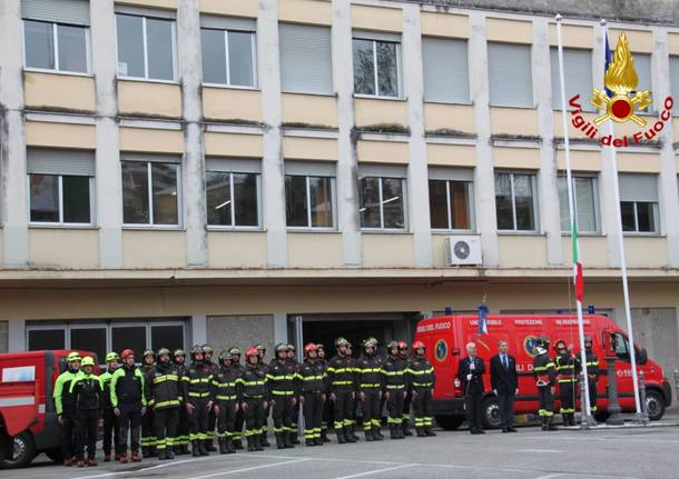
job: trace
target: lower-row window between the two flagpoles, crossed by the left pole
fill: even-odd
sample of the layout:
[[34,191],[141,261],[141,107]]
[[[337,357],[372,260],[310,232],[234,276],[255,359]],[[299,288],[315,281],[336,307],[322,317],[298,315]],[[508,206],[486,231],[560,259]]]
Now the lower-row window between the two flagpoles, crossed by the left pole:
[[[573,211],[577,212],[578,231],[596,233],[599,231],[599,203],[597,197],[597,179],[593,177],[574,176]],[[560,176],[559,213],[561,214],[561,231],[571,231],[570,210],[568,206],[568,182],[565,176]]]

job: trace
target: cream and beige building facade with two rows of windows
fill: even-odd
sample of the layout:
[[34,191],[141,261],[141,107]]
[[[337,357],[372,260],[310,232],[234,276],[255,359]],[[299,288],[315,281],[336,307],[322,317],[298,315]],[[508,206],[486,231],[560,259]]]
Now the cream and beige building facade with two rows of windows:
[[[0,2],[0,350],[388,340],[484,300],[572,310],[555,12],[444,3]],[[570,3],[567,96],[597,116],[617,14],[656,121],[679,99],[673,2]],[[623,323],[611,150],[569,128],[585,303]],[[671,120],[618,151],[636,339],[670,371],[678,141]],[[480,265],[456,265],[459,239]]]

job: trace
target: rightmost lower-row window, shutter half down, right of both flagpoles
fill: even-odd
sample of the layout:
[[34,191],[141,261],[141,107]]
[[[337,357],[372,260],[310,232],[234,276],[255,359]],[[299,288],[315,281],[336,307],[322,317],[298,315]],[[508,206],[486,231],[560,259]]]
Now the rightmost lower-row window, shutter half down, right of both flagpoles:
[[622,231],[658,233],[658,177],[620,173],[619,184]]

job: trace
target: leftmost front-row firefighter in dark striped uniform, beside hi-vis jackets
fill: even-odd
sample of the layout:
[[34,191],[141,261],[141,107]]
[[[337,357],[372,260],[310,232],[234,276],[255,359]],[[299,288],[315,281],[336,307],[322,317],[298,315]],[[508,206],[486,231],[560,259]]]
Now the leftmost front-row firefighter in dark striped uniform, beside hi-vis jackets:
[[158,459],[175,459],[175,438],[181,406],[179,369],[170,361],[170,350],[158,350],[158,362],[146,373],[146,398],[154,411],[154,437]]

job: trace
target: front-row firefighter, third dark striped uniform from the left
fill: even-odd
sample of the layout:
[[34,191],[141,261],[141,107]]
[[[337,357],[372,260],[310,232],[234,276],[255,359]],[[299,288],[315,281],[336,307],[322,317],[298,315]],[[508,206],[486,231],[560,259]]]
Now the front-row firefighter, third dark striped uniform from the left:
[[234,429],[239,400],[236,396],[236,381],[240,377],[238,368],[232,368],[232,355],[228,351],[219,352],[219,369],[213,377],[215,402],[218,406],[217,437],[219,438],[219,453],[236,452],[234,449]]

